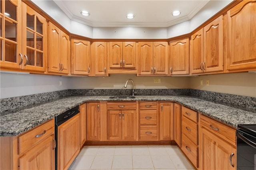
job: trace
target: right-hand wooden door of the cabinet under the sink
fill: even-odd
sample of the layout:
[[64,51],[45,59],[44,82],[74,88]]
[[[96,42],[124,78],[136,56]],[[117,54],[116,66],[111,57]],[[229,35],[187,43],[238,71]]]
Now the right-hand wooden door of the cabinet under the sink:
[[122,111],[122,139],[135,141],[137,139],[136,110]]

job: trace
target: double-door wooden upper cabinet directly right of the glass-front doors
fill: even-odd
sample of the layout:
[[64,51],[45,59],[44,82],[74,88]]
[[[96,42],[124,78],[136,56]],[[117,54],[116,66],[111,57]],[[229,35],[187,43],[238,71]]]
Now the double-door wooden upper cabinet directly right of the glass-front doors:
[[53,23],[48,23],[48,72],[69,73],[69,36]]

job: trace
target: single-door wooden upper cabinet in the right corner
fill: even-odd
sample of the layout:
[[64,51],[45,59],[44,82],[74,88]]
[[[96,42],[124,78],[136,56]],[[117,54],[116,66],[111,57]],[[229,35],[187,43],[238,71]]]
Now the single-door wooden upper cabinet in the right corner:
[[189,38],[170,42],[170,75],[189,74]]

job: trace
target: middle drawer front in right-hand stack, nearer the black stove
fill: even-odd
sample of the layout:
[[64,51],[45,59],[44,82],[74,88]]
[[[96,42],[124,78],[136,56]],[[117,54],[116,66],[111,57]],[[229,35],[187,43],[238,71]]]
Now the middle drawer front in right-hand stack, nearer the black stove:
[[182,133],[198,145],[198,125],[185,116],[182,116]]

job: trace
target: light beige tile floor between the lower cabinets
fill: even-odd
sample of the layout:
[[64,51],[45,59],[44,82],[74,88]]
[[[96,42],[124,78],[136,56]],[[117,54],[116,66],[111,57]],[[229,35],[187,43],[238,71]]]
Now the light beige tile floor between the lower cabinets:
[[86,146],[69,170],[194,170],[177,146]]

